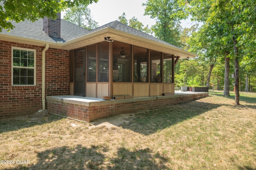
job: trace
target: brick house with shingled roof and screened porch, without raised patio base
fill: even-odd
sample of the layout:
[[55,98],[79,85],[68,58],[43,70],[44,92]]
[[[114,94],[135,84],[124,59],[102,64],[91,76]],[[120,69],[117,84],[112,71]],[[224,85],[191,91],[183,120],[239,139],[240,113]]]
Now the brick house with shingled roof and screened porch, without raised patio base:
[[47,108],[46,96],[174,94],[174,65],[197,55],[113,21],[86,30],[60,19],[0,33],[0,118]]

